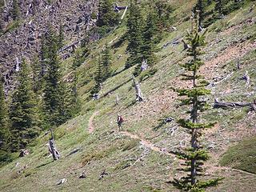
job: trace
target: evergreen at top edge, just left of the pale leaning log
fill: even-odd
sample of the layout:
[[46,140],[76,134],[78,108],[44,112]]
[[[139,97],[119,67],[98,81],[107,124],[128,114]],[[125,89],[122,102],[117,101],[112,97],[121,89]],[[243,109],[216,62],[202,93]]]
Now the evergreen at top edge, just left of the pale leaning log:
[[98,20],[97,26],[114,26],[118,24],[118,14],[113,10],[111,0],[100,0],[98,2]]

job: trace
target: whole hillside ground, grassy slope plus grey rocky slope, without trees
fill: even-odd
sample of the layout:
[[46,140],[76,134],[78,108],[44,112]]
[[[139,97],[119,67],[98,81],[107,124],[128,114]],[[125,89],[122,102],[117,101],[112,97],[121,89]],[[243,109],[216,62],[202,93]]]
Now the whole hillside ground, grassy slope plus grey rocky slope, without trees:
[[[145,70],[136,77],[143,102],[135,100],[132,74],[137,66],[125,68],[129,58],[124,38],[129,7],[118,25],[95,38],[90,29],[96,25],[97,1],[52,1],[49,9],[46,5],[50,1],[38,1],[38,6],[34,6],[38,11],[30,14],[26,14],[25,7],[30,6],[28,2],[36,1],[20,2],[20,23],[0,39],[0,70],[4,75],[15,71],[17,61],[22,58],[33,62],[40,50],[40,33],[47,24],[56,31],[60,23],[64,26],[65,45],[58,52],[64,80],[68,81],[71,76],[72,63],[82,50],[86,34],[90,36],[86,47],[90,51],[76,69],[81,111],[54,128],[54,142],[61,158],[53,161],[49,157],[50,134],[42,131],[27,146],[30,154],[18,158],[16,153],[13,162],[0,167],[0,191],[178,191],[170,184],[173,178],[182,176],[178,171],[181,163],[174,152],[190,145],[190,134],[178,126],[178,119],[187,113],[186,108],[179,105],[180,98],[174,89],[192,86],[181,76],[184,72],[181,65],[187,61],[182,39],[186,30],[190,30],[191,10],[197,1],[164,1],[172,7],[170,26],[162,31],[156,45],[154,74]],[[210,102],[210,110],[199,118],[217,122],[213,128],[203,130],[201,138],[210,153],[205,177],[224,179],[206,191],[255,191],[256,110],[248,106],[214,107],[214,104],[255,104],[256,2],[240,1],[239,8],[226,4],[223,17],[214,21],[210,18],[215,2],[209,2],[207,27],[203,27],[203,31],[207,29],[207,44],[202,55],[205,65],[200,73],[209,82],[207,88],[211,94],[204,99]],[[118,5],[129,3],[119,1]],[[149,13],[150,3],[139,2],[143,18]],[[118,12],[119,18],[123,12]],[[36,29],[33,40],[30,39],[31,25]],[[91,90],[95,86],[98,60],[106,46],[110,47],[112,73],[101,83],[99,98],[94,99]],[[13,75],[11,80],[6,79],[6,94],[15,87],[15,73],[10,75]],[[243,78],[245,74],[250,77],[249,82]],[[121,130],[118,130],[118,114],[124,119]],[[165,122],[166,118],[172,120]],[[66,182],[58,185],[63,178]]]

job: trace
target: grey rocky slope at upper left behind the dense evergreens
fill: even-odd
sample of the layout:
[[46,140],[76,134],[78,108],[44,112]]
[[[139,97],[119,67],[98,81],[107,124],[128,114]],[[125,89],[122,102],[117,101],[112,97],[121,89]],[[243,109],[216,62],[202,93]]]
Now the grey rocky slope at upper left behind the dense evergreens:
[[[5,78],[6,92],[14,84],[14,74],[19,70],[22,58],[33,61],[40,50],[42,34],[47,26],[58,30],[63,26],[65,41],[70,44],[80,42],[81,38],[94,26],[95,20],[91,14],[97,11],[97,1],[58,0],[51,4],[46,0],[21,0],[19,7],[21,19],[18,27],[6,32],[0,38],[0,71]],[[6,1],[2,18],[4,26],[10,26],[12,1]],[[67,45],[68,46],[68,45]],[[70,46],[74,49],[74,46]],[[67,58],[70,48],[62,51]]]

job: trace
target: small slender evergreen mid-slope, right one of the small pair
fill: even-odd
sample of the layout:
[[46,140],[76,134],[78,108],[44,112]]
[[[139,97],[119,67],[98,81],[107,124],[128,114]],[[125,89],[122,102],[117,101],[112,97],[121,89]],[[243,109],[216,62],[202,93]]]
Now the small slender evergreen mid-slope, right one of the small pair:
[[110,56],[110,47],[107,45],[105,46],[105,49],[102,52],[102,81],[105,81],[106,78],[109,78],[111,75],[110,70],[111,65],[111,56]]

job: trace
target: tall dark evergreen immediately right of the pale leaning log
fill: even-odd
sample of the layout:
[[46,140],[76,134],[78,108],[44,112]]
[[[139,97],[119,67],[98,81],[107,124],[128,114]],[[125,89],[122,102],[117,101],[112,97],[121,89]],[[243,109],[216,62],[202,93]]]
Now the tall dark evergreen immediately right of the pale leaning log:
[[126,61],[126,69],[142,62],[142,54],[140,52],[142,46],[142,25],[143,19],[137,0],[130,0],[130,11],[127,21],[127,51],[130,57]]

